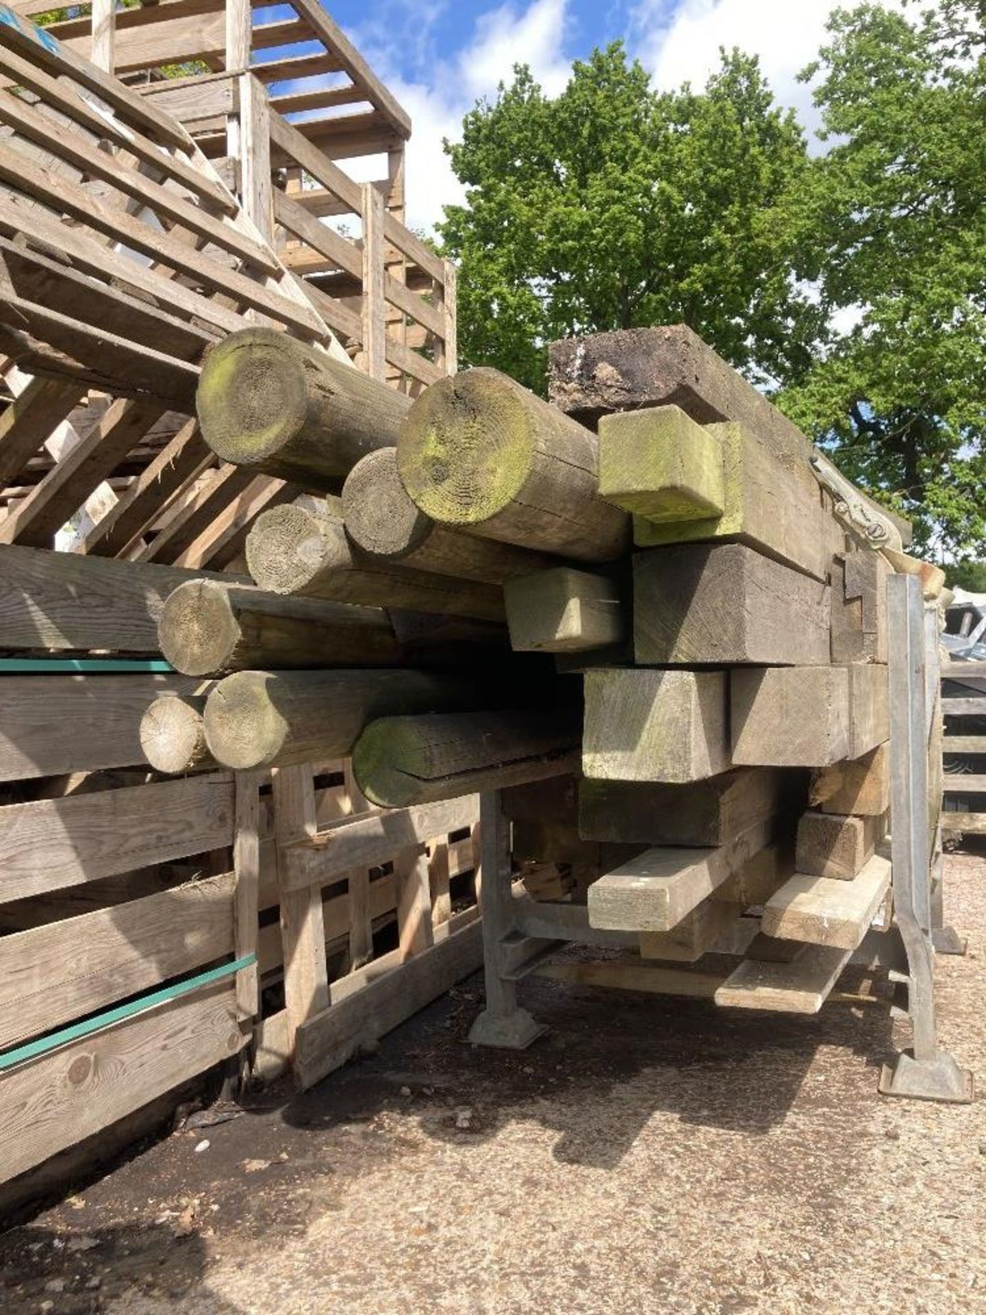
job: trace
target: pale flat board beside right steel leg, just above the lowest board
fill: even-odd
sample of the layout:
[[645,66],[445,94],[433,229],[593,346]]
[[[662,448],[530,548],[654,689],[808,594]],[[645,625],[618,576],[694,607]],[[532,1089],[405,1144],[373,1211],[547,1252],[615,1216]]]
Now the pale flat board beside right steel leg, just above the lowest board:
[[768,936],[856,949],[889,889],[890,863],[878,853],[852,881],[798,873],[766,901],[761,927]]

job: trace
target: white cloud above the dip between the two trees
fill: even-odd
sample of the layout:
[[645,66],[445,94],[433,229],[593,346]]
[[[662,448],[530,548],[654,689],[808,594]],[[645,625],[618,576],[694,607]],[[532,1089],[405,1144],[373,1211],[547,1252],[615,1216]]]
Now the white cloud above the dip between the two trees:
[[[877,0],[899,8],[898,0]],[[703,87],[719,66],[719,47],[760,57],[774,95],[814,130],[818,112],[798,72],[818,54],[826,22],[839,0],[639,0],[631,12],[631,45],[663,89],[690,82]]]

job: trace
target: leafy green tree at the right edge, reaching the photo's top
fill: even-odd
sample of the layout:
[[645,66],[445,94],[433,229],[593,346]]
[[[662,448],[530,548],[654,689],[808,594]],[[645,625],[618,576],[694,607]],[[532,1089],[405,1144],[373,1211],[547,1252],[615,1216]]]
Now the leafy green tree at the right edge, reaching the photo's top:
[[789,213],[835,322],[780,405],[940,558],[986,535],[986,4],[830,22],[805,78],[830,149]]

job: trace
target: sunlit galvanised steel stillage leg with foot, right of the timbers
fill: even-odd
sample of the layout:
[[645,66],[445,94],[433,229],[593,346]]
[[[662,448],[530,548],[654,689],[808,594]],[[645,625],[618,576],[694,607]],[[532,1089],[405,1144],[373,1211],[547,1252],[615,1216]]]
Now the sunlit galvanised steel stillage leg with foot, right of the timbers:
[[931,940],[931,843],[928,832],[928,735],[926,697],[924,601],[916,576],[887,581],[890,639],[890,817],[894,918],[907,952],[907,1003],[914,1047],[893,1069],[885,1066],[880,1090],[926,1101],[973,1098],[973,1077],[939,1049],[935,1023]]

